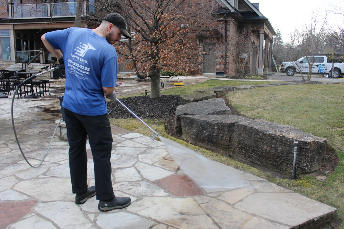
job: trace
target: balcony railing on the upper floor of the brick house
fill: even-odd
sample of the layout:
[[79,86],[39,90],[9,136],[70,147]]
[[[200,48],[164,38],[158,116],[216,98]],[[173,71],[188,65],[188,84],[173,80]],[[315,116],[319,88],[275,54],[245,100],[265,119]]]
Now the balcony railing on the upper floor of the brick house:
[[[10,5],[10,18],[50,18],[74,16],[76,2],[43,3]],[[85,15],[86,4],[83,2],[82,15]]]

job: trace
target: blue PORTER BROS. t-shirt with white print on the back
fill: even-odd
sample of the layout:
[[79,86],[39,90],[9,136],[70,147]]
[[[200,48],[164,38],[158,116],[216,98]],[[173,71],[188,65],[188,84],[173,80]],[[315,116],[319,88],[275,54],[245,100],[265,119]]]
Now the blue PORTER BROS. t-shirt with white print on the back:
[[87,28],[49,32],[45,39],[63,52],[66,83],[62,106],[82,115],[106,114],[102,87],[116,86],[115,48]]

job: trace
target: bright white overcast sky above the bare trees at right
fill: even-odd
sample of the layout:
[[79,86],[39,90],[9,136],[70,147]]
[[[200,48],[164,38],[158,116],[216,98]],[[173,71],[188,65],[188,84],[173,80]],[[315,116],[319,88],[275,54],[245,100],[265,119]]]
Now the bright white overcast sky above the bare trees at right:
[[[269,19],[275,31],[278,28],[282,32],[284,42],[288,41],[288,34],[295,27],[300,27],[304,21],[309,21],[312,10],[334,11],[340,8],[341,4],[344,6],[344,0],[250,0],[250,2],[259,3],[259,11]],[[330,22],[343,22],[338,15],[330,16]]]

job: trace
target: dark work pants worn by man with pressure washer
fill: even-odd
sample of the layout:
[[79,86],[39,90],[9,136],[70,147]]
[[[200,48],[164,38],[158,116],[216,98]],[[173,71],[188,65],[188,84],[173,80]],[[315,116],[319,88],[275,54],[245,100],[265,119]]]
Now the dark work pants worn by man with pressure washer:
[[112,135],[107,114],[87,116],[66,108],[64,112],[73,193],[87,191],[86,138],[88,135],[94,162],[97,199],[111,199],[115,195],[111,182]]

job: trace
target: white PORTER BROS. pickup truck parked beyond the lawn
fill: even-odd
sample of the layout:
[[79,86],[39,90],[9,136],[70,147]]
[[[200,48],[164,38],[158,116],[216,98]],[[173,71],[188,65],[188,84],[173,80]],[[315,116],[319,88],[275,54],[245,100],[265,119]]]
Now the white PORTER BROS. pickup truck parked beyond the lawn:
[[[331,77],[332,62],[328,63],[326,56],[314,56],[312,58],[314,58],[312,73],[323,75],[330,73],[329,77]],[[344,74],[344,63],[334,63],[333,68],[332,78],[338,78]],[[300,72],[300,69],[302,73],[308,73],[309,65],[306,57],[302,57],[297,61],[283,62],[280,71],[287,73],[288,76],[294,76],[295,72]]]

